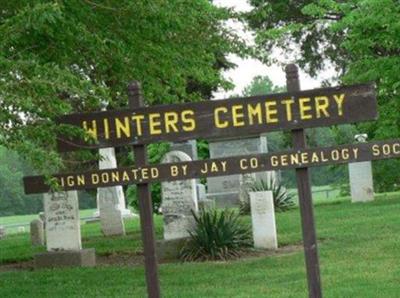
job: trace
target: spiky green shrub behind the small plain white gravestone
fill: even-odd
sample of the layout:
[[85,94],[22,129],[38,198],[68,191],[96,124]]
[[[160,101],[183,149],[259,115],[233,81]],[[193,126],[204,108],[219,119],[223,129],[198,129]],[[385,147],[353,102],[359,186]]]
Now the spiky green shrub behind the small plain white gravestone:
[[[260,180],[254,182],[249,187],[250,191],[272,191],[274,199],[274,207],[276,212],[284,212],[294,207],[294,194],[286,190],[286,188],[275,182],[272,178],[268,181]],[[250,199],[247,198],[240,202],[240,214],[250,214]]]

